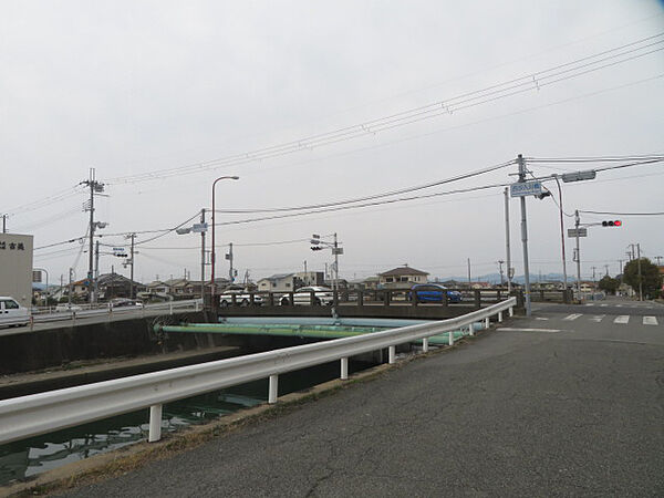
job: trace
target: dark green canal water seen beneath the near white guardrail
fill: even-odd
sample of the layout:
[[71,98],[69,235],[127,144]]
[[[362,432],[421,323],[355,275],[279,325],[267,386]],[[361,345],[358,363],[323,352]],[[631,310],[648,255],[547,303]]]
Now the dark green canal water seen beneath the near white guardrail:
[[[350,373],[370,366],[367,363],[349,363]],[[338,377],[339,362],[290,372],[279,376],[279,394],[301,391]],[[163,432],[175,432],[180,427],[264,403],[267,396],[266,378],[166,404],[162,419]],[[145,439],[147,422],[146,408],[0,445],[0,486]]]

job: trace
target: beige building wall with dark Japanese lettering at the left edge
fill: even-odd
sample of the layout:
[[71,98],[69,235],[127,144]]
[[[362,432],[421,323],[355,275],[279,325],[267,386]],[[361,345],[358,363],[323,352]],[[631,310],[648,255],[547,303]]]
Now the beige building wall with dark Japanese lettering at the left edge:
[[27,308],[32,305],[32,236],[0,234],[0,295]]

